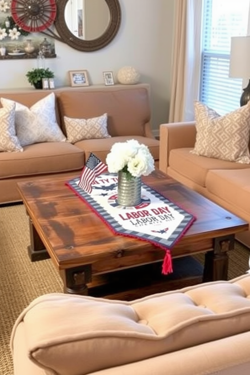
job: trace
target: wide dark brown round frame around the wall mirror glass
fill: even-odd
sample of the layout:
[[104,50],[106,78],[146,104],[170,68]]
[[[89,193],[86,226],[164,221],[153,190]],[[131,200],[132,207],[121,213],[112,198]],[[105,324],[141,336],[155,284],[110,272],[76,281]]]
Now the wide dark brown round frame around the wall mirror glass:
[[57,6],[57,16],[54,23],[55,28],[61,37],[61,41],[79,51],[90,52],[105,47],[112,39],[114,39],[121,23],[121,7],[119,0],[105,0],[110,12],[108,27],[100,37],[91,40],[79,39],[73,35],[67,27],[64,12],[68,1],[69,0],[60,0],[60,6]]

